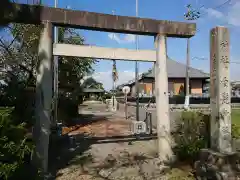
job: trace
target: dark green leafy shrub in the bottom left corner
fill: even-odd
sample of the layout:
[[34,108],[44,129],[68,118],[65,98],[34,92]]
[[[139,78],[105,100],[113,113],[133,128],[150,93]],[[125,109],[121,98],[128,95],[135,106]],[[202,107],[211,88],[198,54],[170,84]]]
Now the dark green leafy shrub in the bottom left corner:
[[[0,179],[23,179],[33,150],[25,124],[12,121],[11,108],[0,108]],[[29,171],[29,169],[28,169]],[[29,174],[29,173],[28,173]]]

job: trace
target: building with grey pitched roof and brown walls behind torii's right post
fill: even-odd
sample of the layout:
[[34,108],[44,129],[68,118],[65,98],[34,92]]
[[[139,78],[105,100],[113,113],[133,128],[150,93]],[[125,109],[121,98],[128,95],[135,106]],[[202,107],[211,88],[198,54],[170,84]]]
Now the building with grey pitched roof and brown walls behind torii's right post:
[[[155,89],[155,74],[154,67],[148,72],[145,72],[139,77],[139,93],[145,96],[154,95]],[[170,58],[167,60],[167,73],[168,73],[168,91],[173,95],[185,94],[185,81],[186,81],[186,65],[174,61]],[[201,96],[204,93],[205,84],[208,83],[210,78],[208,73],[190,67],[190,94]],[[122,84],[118,88],[129,86],[131,88],[131,96],[135,96],[136,87],[135,79],[128,83]]]

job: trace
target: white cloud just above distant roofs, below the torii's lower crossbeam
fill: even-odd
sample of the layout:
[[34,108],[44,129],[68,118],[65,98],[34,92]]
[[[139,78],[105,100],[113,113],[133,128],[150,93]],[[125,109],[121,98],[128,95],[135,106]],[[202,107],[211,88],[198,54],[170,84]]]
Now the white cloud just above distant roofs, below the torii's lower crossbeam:
[[[106,90],[112,89],[112,71],[105,71],[105,72],[96,72],[92,76],[98,82],[103,83],[103,86]],[[123,84],[128,82],[129,80],[134,79],[135,72],[134,71],[118,71],[118,81],[116,82],[117,85]]]

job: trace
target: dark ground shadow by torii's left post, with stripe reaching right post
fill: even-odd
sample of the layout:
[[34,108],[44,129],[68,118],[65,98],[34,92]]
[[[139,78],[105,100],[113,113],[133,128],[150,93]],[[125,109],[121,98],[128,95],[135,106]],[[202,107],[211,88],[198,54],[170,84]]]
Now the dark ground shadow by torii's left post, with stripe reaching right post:
[[[72,121],[72,125],[86,126],[99,121],[106,121],[106,116],[96,116],[93,114],[83,114],[79,118]],[[73,130],[74,131],[74,130]],[[133,141],[145,141],[155,139],[156,134],[153,135],[127,135],[127,136],[111,136],[111,137],[96,137],[87,134],[68,135],[65,134],[61,137],[52,135],[50,139],[49,149],[49,170],[53,176],[53,179],[57,178],[57,172],[67,166],[74,163],[75,157],[84,155],[84,152],[91,149],[93,144],[103,143],[120,143],[120,142],[131,142]],[[90,156],[83,156],[78,158],[79,165],[84,164],[85,161],[91,161]],[[61,174],[58,174],[61,176]]]

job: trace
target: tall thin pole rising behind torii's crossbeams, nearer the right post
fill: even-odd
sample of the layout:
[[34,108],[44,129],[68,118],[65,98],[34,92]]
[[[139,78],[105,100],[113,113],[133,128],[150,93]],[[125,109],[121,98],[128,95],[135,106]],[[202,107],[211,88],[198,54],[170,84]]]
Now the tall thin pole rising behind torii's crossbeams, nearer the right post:
[[[136,17],[138,17],[138,0],[136,0]],[[138,50],[138,35],[136,39],[136,50]],[[135,62],[135,87],[136,87],[136,120],[139,121],[139,78],[138,78],[138,61]]]

